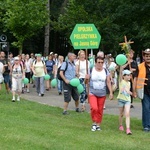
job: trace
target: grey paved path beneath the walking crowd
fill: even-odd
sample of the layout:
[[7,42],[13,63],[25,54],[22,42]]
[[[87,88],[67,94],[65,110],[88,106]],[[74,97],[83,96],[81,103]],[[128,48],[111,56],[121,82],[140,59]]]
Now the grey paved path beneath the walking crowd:
[[[56,88],[51,89],[50,91],[46,91],[44,97],[39,97],[35,92],[35,88],[31,87],[30,93],[22,94],[21,97],[30,101],[63,108],[63,95],[58,95]],[[134,103],[134,107],[135,108],[131,109],[131,117],[141,119],[141,114],[142,114],[141,103],[140,102]],[[68,109],[70,110],[75,109],[73,100],[69,103]],[[88,112],[90,111],[88,103],[86,104],[86,111]],[[112,114],[112,115],[119,114],[117,100],[112,100],[112,101],[106,100],[106,109],[104,110],[104,114]]]

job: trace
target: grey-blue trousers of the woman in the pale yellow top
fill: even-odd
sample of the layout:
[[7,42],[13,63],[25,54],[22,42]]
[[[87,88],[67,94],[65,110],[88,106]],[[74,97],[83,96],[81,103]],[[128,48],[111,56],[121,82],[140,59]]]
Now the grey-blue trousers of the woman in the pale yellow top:
[[44,91],[45,91],[44,76],[43,77],[34,77],[34,78],[35,78],[36,92],[38,94],[44,94]]

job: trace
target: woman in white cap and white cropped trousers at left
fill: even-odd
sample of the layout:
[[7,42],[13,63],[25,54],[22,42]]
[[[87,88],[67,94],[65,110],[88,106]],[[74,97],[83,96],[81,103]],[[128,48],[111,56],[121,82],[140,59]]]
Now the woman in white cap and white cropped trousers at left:
[[14,57],[14,65],[12,66],[12,102],[15,102],[15,95],[17,94],[17,101],[20,101],[20,94],[22,91],[22,79],[25,77],[23,66],[19,61],[19,57]]

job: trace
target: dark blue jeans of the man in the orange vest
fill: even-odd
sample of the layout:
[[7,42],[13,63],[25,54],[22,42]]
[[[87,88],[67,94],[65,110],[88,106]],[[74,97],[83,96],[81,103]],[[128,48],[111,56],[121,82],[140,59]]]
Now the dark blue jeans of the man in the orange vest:
[[150,129],[150,95],[146,94],[142,100],[142,124],[143,128]]

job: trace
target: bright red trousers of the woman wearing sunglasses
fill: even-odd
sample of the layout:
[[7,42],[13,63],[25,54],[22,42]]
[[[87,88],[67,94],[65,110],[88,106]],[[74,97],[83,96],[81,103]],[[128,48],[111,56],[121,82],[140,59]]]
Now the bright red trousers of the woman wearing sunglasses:
[[103,118],[103,107],[106,96],[97,97],[95,95],[89,95],[91,118],[93,122],[101,123]]

